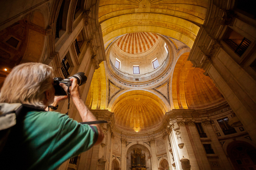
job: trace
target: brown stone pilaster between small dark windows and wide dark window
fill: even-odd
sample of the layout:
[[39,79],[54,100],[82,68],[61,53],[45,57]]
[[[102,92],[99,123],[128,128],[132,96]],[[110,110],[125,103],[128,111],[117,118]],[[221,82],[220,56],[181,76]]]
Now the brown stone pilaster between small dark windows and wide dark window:
[[213,130],[211,126],[210,120],[202,120],[202,123],[204,124],[205,131],[207,136],[212,140],[212,148],[213,151],[218,154],[219,161],[222,163],[222,168],[225,170],[232,170],[232,166],[230,165],[227,156],[215,134],[215,131]]

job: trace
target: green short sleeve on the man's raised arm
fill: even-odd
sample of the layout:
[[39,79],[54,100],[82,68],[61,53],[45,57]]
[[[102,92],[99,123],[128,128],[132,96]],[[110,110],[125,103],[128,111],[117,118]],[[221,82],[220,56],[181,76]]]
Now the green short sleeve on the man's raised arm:
[[90,149],[98,138],[96,127],[82,125],[66,115],[61,115],[60,119],[61,127],[49,153],[49,161],[56,166]]

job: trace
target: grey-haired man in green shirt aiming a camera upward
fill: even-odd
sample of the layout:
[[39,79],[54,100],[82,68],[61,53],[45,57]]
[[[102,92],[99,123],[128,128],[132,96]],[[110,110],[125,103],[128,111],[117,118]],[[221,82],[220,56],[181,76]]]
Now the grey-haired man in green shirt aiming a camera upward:
[[[70,80],[70,97],[82,121],[95,121],[81,100],[77,80]],[[60,86],[67,91],[66,85]],[[99,125],[82,125],[65,114],[44,111],[48,105],[57,106],[65,98],[54,100],[54,93],[53,70],[48,65],[23,63],[6,77],[0,92],[0,112],[15,110],[21,104],[32,105],[35,109],[25,113],[11,128],[1,151],[0,169],[56,169],[103,140]]]

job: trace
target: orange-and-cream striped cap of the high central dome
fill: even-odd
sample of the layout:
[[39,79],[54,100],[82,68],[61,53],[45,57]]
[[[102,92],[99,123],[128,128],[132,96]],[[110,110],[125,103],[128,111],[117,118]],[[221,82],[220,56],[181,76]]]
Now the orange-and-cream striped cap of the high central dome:
[[152,48],[157,40],[158,36],[154,33],[137,32],[120,37],[116,45],[129,54],[140,54]]

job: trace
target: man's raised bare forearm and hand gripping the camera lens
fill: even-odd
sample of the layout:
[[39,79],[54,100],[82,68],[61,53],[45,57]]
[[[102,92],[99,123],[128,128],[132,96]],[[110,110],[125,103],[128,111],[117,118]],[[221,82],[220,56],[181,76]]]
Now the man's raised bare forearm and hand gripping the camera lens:
[[[72,85],[69,89],[70,97],[73,100],[83,122],[90,122],[90,121],[97,121],[94,115],[90,112],[90,110],[85,106],[83,100],[81,99],[80,92],[79,92],[79,85],[77,84],[77,79],[71,78]],[[67,86],[65,84],[60,83],[60,86],[67,91]],[[98,129],[98,139],[95,145],[100,144],[100,142],[104,139],[104,134],[102,129],[100,128],[99,124],[94,124],[91,126],[95,126]]]

